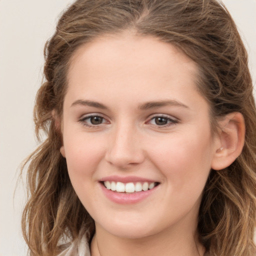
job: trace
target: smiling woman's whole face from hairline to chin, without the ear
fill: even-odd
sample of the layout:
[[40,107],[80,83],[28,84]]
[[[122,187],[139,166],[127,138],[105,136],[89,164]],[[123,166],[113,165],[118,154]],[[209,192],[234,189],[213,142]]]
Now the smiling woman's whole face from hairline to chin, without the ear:
[[216,151],[196,72],[173,45],[128,33],[74,54],[61,153],[96,230],[134,238],[195,229]]

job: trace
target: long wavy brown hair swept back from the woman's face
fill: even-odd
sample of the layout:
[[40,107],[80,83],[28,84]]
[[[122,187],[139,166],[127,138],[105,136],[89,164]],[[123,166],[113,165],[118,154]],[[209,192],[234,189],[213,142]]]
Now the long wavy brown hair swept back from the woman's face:
[[[28,157],[28,201],[22,229],[30,255],[56,255],[63,240],[75,241],[81,226],[94,223],[78,200],[61,156],[61,116],[71,56],[103,34],[133,29],[182,49],[198,67],[198,89],[216,119],[238,111],[246,125],[239,157],[223,170],[211,170],[198,215],[198,235],[210,256],[256,254],[256,110],[247,53],[236,26],[217,0],[76,0],[59,18],[44,49],[45,81],[34,107],[35,132],[46,139]],[[87,236],[90,239],[90,236]]]

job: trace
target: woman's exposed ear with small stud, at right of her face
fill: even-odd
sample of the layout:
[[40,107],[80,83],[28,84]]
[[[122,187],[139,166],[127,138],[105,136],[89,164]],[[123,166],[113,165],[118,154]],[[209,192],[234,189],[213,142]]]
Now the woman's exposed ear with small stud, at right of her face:
[[239,112],[232,112],[219,121],[220,130],[216,150],[211,162],[215,170],[229,166],[241,153],[244,137],[244,118]]

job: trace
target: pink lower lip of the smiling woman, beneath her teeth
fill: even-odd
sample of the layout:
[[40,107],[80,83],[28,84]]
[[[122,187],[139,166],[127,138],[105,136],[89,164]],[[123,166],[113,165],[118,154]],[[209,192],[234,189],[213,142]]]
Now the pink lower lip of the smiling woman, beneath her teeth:
[[106,189],[106,187],[102,183],[100,183],[100,186],[105,196],[111,201],[119,204],[132,204],[132,203],[140,202],[145,198],[149,197],[159,185],[146,191],[133,192],[133,193],[112,191],[110,189]]

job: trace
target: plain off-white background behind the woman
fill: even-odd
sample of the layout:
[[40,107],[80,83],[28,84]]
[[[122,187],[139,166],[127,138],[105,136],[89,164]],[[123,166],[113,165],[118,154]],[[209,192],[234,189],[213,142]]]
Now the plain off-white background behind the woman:
[[[18,165],[34,148],[32,107],[43,45],[71,0],[0,0],[0,256],[25,255],[20,230],[24,188]],[[249,51],[256,79],[256,0],[223,0]]]

